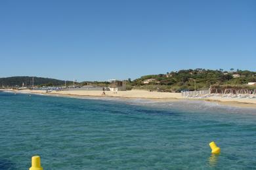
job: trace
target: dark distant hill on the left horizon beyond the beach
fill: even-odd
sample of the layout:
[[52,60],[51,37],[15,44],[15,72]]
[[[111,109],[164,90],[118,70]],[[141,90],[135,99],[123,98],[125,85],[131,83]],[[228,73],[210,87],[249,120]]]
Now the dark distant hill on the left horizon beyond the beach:
[[[0,86],[32,86],[32,80],[33,85],[47,85],[47,86],[60,86],[65,84],[64,80],[58,80],[54,78],[43,78],[43,77],[37,77],[37,76],[11,76],[11,77],[5,77],[0,78]],[[67,81],[66,83],[71,83],[71,81]]]

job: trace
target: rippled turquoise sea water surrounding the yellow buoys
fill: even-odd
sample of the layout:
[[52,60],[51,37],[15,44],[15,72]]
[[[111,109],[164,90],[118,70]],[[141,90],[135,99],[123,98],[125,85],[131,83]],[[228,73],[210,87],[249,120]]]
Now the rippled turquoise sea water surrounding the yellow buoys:
[[0,116],[0,169],[256,169],[256,109],[0,92]]

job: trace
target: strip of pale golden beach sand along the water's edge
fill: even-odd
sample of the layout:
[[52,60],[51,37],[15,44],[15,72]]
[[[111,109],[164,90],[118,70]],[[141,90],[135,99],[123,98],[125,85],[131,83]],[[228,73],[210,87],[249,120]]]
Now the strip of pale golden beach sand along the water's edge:
[[89,91],[89,90],[70,90],[70,91],[53,91],[46,92],[45,90],[12,90],[0,89],[3,92],[14,93],[35,93],[43,95],[54,95],[62,97],[115,97],[123,99],[149,99],[152,101],[168,102],[179,100],[194,100],[194,101],[207,101],[210,103],[217,103],[219,105],[227,105],[232,107],[256,108],[256,99],[239,99],[239,98],[226,98],[226,97],[205,97],[205,98],[188,98],[182,97],[181,93],[169,92],[148,92],[146,90],[130,90],[119,91],[113,93],[105,91],[106,95],[102,95],[102,91]]

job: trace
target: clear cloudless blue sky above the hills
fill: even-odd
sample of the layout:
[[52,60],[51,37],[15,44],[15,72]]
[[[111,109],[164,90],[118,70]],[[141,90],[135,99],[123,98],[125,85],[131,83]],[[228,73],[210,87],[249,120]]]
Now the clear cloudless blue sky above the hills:
[[256,71],[256,1],[2,0],[0,77]]

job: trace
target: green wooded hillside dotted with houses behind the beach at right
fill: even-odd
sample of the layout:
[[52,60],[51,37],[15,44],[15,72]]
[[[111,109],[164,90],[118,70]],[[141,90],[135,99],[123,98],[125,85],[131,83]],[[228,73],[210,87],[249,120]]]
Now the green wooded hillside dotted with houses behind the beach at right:
[[238,86],[256,82],[256,72],[234,71],[234,69],[230,69],[229,72],[223,71],[223,69],[187,69],[167,74],[146,75],[127,83],[135,89],[180,92],[181,90],[194,90],[195,81],[196,90],[207,90],[213,85]]

